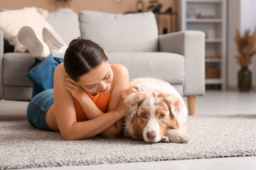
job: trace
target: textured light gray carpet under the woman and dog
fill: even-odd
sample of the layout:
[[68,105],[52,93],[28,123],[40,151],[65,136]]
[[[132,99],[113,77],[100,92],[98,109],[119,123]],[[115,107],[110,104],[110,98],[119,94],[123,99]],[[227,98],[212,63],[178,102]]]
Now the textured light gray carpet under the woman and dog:
[[256,115],[188,117],[187,144],[125,138],[64,141],[26,120],[0,121],[0,169],[256,156]]

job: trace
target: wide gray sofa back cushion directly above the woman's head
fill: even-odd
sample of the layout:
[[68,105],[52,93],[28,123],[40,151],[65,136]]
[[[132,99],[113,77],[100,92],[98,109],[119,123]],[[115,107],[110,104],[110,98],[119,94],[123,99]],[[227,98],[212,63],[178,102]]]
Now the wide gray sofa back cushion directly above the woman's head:
[[158,28],[154,13],[81,11],[79,21],[82,38],[96,42],[107,52],[158,50]]

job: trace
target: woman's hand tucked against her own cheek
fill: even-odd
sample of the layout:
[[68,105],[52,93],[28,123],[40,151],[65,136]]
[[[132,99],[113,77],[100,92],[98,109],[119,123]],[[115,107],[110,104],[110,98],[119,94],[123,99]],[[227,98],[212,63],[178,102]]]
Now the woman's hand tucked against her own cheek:
[[76,98],[78,101],[80,100],[80,98],[82,98],[82,96],[87,95],[85,93],[85,90],[82,89],[82,87],[80,86],[80,84],[71,79],[71,77],[69,77],[68,74],[66,74],[65,88],[68,91],[70,91],[72,96]]

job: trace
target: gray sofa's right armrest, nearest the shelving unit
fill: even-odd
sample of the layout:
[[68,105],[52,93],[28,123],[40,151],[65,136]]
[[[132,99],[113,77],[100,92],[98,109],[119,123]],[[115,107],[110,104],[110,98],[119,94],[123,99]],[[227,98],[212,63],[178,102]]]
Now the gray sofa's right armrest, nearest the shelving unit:
[[205,34],[198,30],[159,35],[160,52],[173,52],[185,58],[184,96],[205,94]]

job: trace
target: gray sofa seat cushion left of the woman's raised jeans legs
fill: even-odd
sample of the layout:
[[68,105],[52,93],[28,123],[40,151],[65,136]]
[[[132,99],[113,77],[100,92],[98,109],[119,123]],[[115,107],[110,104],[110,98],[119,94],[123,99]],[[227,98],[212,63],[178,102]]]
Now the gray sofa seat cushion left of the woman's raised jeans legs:
[[29,53],[9,52],[3,58],[4,86],[33,86],[25,73],[35,58]]

